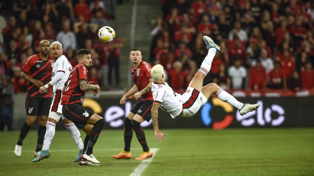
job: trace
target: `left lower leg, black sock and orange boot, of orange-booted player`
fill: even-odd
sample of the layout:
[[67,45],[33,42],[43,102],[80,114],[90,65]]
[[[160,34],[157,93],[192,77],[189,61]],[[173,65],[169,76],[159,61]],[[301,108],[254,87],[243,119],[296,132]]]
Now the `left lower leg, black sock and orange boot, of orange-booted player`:
[[132,157],[130,149],[131,149],[131,140],[133,137],[133,129],[131,125],[133,117],[134,117],[134,114],[130,112],[127,115],[127,117],[124,119],[124,150],[117,155],[112,155],[113,158],[130,159]]

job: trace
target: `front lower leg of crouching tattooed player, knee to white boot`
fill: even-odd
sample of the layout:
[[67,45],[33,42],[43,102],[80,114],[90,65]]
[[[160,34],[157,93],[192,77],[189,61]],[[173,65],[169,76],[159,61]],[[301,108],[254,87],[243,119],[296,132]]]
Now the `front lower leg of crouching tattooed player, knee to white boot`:
[[99,134],[102,128],[105,125],[105,121],[102,117],[97,114],[93,114],[89,120],[87,121],[88,124],[94,125],[90,131],[89,141],[87,143],[86,149],[84,154],[81,156],[83,160],[87,160],[91,163],[99,164],[99,161],[93,155],[93,148],[94,145],[99,137]]

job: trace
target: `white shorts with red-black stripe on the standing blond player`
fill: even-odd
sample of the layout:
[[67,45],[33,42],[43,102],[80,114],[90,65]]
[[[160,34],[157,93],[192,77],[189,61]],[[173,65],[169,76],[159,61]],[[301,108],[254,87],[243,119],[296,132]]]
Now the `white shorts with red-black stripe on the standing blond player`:
[[62,119],[66,119],[62,115],[62,105],[61,105],[61,90],[56,90],[56,92],[53,94],[50,111],[49,111],[49,118],[53,118],[56,121],[59,121],[59,119],[62,117]]

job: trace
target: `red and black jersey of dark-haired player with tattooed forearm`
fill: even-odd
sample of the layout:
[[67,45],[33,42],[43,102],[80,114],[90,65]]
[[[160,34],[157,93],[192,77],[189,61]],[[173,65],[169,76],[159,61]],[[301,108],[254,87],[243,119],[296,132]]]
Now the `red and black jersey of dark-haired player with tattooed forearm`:
[[85,91],[81,90],[79,81],[88,83],[88,71],[83,65],[76,65],[70,72],[67,82],[64,83],[65,90],[62,93],[61,104],[84,104]]

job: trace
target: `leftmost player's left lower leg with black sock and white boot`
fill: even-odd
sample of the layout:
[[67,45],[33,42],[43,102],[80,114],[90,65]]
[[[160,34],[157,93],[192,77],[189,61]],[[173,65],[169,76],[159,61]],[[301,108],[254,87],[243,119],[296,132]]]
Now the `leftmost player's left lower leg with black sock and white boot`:
[[27,116],[27,120],[21,128],[19,140],[15,145],[14,153],[16,156],[21,156],[23,140],[26,137],[27,133],[30,131],[30,128],[32,127],[32,125],[35,123],[36,118],[37,116],[30,116],[30,115]]

